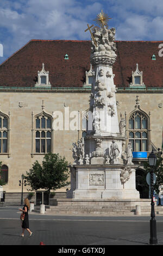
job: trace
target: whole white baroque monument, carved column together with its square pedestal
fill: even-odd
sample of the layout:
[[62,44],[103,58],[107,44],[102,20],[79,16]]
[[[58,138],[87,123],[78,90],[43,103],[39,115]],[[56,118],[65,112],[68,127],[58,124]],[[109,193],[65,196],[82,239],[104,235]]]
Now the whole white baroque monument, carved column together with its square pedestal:
[[[131,160],[123,164],[122,143],[116,106],[113,65],[116,61],[115,29],[105,26],[92,32],[91,65],[93,82],[90,95],[87,136],[81,151],[73,144],[76,189],[73,199],[138,199],[135,168]],[[122,129],[121,129],[122,130]],[[81,154],[81,152],[83,152]]]

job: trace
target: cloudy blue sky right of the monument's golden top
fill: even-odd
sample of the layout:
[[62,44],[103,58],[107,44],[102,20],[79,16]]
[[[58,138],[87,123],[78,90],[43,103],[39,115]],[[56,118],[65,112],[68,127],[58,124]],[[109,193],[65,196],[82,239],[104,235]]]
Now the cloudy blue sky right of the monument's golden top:
[[162,0],[104,0],[112,11],[117,40],[162,40]]

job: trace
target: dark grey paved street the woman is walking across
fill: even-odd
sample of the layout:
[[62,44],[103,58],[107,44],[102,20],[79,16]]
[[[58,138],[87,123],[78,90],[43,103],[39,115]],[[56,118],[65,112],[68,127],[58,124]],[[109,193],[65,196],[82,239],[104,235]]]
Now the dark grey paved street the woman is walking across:
[[[57,216],[29,214],[30,229],[21,237],[18,206],[0,207],[0,245],[148,245],[149,216]],[[159,245],[163,245],[163,216],[156,216]],[[62,248],[62,247],[61,247]]]

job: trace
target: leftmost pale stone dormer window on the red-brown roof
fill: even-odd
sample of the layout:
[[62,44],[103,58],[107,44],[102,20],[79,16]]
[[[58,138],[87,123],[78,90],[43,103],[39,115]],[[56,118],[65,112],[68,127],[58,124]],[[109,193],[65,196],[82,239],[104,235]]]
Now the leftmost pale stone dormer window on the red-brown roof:
[[45,71],[45,64],[42,63],[42,70],[37,72],[37,82],[35,87],[51,87],[49,82],[49,71]]

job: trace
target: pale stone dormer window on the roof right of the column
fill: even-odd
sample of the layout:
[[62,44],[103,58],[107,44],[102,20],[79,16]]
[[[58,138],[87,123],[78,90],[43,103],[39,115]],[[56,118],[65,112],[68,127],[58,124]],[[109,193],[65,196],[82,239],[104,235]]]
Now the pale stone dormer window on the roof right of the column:
[[130,88],[146,88],[143,83],[143,71],[139,71],[139,65],[136,64],[136,70],[132,71],[132,82],[129,84]]

